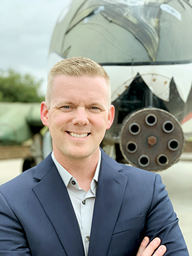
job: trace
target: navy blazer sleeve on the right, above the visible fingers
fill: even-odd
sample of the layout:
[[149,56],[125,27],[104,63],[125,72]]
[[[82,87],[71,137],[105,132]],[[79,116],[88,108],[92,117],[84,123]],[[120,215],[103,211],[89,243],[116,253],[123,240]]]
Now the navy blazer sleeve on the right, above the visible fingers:
[[178,225],[178,218],[173,211],[173,205],[161,182],[159,174],[155,177],[153,200],[147,215],[145,235],[152,240],[161,238],[161,244],[166,245],[166,256],[188,256],[187,246]]

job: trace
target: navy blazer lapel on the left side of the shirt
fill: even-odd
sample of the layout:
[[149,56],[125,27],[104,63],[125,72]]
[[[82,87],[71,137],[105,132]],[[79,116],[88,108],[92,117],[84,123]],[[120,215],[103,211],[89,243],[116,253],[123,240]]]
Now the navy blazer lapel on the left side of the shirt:
[[51,155],[37,166],[33,191],[51,221],[67,256],[83,256],[83,242],[69,194]]

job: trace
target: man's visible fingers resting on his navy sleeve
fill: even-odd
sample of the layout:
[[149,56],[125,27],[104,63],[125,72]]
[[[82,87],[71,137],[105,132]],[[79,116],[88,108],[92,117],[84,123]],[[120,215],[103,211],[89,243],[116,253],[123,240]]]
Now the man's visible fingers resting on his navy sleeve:
[[[156,237],[149,243],[149,237],[145,237],[139,247],[139,251],[136,256],[163,256],[165,252],[167,251],[167,248],[165,245],[160,245],[161,239],[159,237]],[[159,247],[157,249],[157,247]],[[157,249],[157,251],[155,251]],[[154,253],[155,251],[155,253]],[[154,254],[153,254],[154,253]]]

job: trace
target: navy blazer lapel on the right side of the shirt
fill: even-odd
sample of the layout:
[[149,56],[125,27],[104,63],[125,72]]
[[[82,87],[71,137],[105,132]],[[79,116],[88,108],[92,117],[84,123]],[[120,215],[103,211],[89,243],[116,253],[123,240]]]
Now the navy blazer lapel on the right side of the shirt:
[[89,256],[107,255],[127,185],[127,177],[121,170],[121,165],[102,151]]

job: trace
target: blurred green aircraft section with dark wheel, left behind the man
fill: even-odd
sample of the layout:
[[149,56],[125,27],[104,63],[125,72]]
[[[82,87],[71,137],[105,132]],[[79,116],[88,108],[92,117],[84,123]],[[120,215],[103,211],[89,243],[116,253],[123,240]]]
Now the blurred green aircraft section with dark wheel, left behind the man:
[[33,139],[31,156],[23,161],[23,171],[43,160],[40,117],[41,103],[0,102],[0,145],[22,145]]

